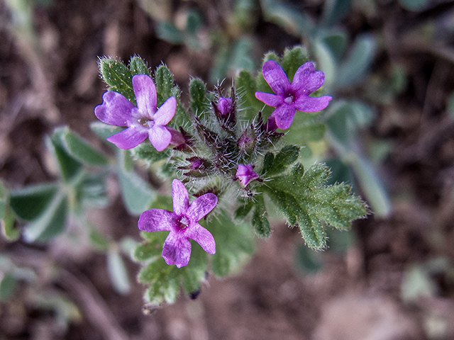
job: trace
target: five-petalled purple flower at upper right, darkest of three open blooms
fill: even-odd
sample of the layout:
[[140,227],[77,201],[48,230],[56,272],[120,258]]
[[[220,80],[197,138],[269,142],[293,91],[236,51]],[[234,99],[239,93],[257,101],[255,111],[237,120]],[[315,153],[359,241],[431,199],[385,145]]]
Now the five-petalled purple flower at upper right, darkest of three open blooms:
[[287,74],[274,60],[268,60],[262,67],[263,77],[275,94],[255,92],[259,101],[274,106],[272,116],[277,127],[285,130],[292,124],[296,111],[316,112],[328,106],[333,97],[310,97],[309,94],[319,89],[325,81],[325,74],[316,71],[314,64],[306,62],[301,65],[290,84]]

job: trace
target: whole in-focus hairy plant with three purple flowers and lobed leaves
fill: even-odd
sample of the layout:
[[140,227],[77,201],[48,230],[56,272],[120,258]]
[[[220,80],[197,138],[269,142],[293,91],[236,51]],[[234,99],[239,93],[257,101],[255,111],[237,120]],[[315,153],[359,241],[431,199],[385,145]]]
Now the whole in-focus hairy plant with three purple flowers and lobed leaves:
[[326,185],[327,166],[305,169],[301,145],[285,143],[294,115],[308,115],[310,126],[331,101],[320,96],[324,74],[301,47],[283,60],[268,54],[257,77],[240,72],[229,89],[207,91],[191,79],[189,108],[163,64],[153,77],[138,57],[129,67],[108,58],[99,64],[109,91],[94,113],[109,125],[94,128],[126,127],[107,140],[129,150],[163,186],[173,179],[172,201],[157,196],[138,222],[144,241],[133,256],[143,264],[138,278],[151,305],[174,302],[180,284],[194,295],[209,271],[224,276],[243,263],[253,252],[253,231],[270,237],[270,205],[312,249],[325,248],[325,225],[348,229],[367,215],[349,186]]

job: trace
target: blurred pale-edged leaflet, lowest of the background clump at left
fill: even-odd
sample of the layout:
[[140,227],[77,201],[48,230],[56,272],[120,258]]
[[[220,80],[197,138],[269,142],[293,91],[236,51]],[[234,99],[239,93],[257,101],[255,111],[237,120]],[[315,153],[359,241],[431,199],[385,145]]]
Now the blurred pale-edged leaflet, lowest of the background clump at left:
[[35,220],[28,223],[23,231],[26,242],[48,242],[65,229],[67,197],[59,191],[48,208]]

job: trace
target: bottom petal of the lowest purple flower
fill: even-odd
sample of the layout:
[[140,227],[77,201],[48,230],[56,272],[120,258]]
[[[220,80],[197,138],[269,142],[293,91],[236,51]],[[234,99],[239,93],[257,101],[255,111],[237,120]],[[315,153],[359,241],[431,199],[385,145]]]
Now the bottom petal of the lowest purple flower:
[[191,242],[177,232],[170,232],[162,246],[162,257],[169,266],[172,264],[178,268],[187,266],[191,257]]

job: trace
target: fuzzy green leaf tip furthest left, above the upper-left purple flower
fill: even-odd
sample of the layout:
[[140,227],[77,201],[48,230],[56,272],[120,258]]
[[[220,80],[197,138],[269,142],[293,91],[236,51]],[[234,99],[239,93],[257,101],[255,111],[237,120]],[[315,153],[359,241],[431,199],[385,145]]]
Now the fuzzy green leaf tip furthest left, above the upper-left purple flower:
[[133,74],[123,62],[108,58],[99,60],[99,72],[102,79],[109,85],[109,91],[118,92],[135,105],[133,91]]

